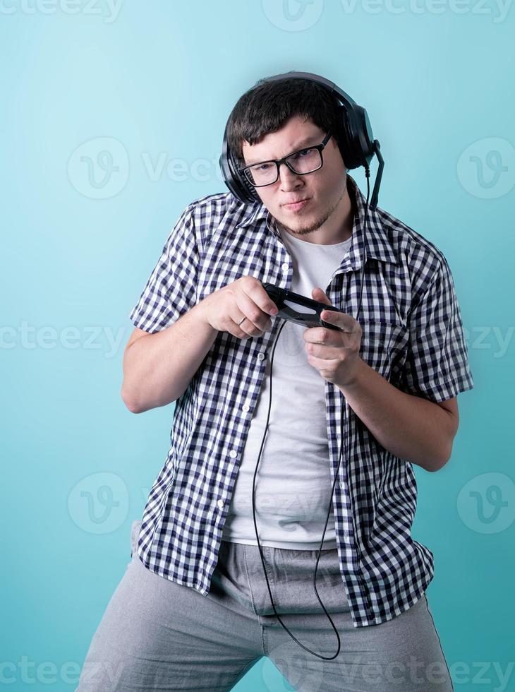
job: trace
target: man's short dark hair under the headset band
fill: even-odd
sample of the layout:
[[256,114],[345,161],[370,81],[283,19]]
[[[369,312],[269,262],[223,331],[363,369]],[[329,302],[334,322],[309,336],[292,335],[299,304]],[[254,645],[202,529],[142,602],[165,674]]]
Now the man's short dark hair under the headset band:
[[325,87],[308,79],[285,77],[267,82],[263,78],[238,99],[227,121],[227,144],[238,165],[245,165],[243,141],[258,144],[294,116],[310,119],[325,132],[331,130],[342,151],[341,116]]

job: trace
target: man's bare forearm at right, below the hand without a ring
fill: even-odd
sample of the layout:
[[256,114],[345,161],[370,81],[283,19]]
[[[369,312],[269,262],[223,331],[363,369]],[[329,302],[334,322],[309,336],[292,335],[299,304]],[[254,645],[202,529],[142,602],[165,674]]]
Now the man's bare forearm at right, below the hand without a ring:
[[356,378],[339,389],[375,439],[396,457],[426,471],[437,471],[449,460],[452,421],[435,402],[401,392],[363,359]]

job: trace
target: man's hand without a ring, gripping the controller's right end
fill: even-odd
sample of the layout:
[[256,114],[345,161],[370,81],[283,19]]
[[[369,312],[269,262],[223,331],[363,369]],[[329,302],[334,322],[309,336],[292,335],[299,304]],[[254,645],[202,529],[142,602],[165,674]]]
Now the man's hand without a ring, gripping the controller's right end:
[[[331,305],[321,288],[312,291],[313,300]],[[355,378],[360,362],[361,327],[351,315],[334,310],[323,311],[323,321],[343,329],[310,327],[304,332],[308,362],[322,377],[339,387],[349,385]]]

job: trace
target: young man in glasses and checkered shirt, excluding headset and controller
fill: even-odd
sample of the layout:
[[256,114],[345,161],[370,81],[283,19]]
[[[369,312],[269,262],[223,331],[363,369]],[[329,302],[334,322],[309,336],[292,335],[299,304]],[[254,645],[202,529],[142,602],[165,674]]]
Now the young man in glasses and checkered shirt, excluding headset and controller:
[[[363,232],[318,85],[261,83],[228,137],[260,202],[190,203],[131,311],[123,400],[175,401],[171,447],[78,690],[230,690],[262,656],[296,689],[452,690],[425,596],[433,556],[411,537],[412,464],[447,463],[473,387],[447,261],[380,208]],[[272,373],[265,282],[337,306],[344,331],[284,324]],[[313,587],[322,535],[337,657]]]

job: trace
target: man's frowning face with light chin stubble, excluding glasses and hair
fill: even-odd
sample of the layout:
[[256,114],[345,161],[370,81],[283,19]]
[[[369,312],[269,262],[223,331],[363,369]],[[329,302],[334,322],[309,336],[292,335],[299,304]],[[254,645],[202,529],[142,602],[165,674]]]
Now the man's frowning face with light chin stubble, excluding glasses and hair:
[[[327,132],[304,117],[292,117],[258,144],[243,143],[246,165],[279,159],[299,149],[322,142]],[[304,236],[320,229],[318,241],[337,243],[345,232],[350,200],[346,190],[346,168],[334,136],[322,151],[322,168],[304,175],[281,164],[279,178],[272,185],[256,188],[257,195],[272,216],[291,234]],[[298,208],[288,203],[307,198]],[[348,237],[350,232],[346,232]]]

